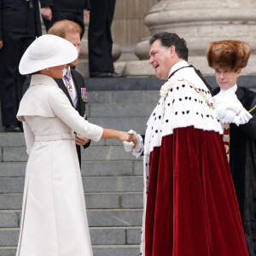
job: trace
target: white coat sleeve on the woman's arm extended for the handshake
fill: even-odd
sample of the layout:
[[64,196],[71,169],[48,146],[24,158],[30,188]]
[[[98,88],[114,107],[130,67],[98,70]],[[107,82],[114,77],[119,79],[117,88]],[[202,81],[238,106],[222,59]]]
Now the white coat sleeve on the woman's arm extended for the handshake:
[[90,124],[79,115],[60,88],[49,90],[49,106],[55,115],[80,136],[98,142],[102,137],[101,126]]

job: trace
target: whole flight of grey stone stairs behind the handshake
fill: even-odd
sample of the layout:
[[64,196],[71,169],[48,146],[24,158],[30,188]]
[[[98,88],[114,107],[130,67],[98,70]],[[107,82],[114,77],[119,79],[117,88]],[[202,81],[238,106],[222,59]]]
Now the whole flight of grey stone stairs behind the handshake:
[[[88,100],[90,122],[144,133],[159,92],[90,89]],[[23,133],[0,132],[1,256],[15,256],[26,160]],[[118,141],[102,140],[82,149],[81,172],[94,256],[139,255],[143,158],[126,153]]]

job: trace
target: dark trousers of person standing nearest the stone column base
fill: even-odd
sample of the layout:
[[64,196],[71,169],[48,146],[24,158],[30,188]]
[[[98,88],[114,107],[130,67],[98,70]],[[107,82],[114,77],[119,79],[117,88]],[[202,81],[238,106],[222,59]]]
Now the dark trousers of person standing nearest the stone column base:
[[90,1],[89,71],[113,73],[111,24],[115,0]]

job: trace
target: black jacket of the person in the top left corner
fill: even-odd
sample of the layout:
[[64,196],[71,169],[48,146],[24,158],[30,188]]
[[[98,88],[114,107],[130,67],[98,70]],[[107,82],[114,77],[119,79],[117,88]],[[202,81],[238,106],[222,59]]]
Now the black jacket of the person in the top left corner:
[[0,0],[0,40],[3,32],[41,36],[38,0]]

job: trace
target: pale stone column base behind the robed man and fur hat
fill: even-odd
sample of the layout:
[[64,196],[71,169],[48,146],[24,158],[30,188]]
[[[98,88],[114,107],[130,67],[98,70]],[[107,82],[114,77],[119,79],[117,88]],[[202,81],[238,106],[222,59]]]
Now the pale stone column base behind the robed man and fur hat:
[[[150,9],[144,22],[152,35],[175,32],[187,41],[189,63],[212,75],[207,66],[207,44],[219,40],[241,40],[250,44],[252,54],[243,74],[256,74],[256,1],[251,0],[160,0]],[[154,75],[148,68],[148,38],[136,45],[140,61],[127,62],[131,76]],[[147,61],[146,61],[147,60]]]

